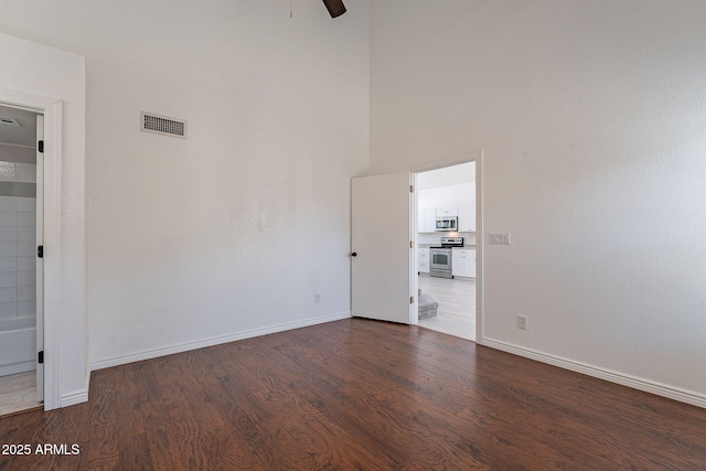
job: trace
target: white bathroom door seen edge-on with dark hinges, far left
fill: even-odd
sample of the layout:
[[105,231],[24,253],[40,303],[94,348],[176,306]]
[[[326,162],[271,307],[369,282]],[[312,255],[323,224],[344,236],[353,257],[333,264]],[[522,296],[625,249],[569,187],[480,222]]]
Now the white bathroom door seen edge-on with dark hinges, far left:
[[[36,115],[36,141],[44,140],[44,116]],[[36,245],[44,245],[44,153],[36,149]],[[36,257],[36,354],[44,352],[44,259]],[[36,362],[36,400],[44,400],[44,363]]]

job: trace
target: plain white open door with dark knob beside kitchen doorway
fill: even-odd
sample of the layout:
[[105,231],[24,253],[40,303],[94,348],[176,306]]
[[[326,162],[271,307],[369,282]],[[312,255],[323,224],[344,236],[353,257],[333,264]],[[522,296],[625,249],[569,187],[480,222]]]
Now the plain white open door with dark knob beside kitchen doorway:
[[[351,312],[413,323],[416,275],[411,174],[362,176],[351,182]],[[355,254],[355,255],[354,255]]]

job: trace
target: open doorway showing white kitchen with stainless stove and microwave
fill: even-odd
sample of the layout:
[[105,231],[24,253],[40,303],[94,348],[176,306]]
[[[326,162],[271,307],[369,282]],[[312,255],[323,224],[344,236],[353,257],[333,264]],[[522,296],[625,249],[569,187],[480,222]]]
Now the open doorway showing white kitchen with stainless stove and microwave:
[[418,325],[475,341],[475,161],[416,174]]

